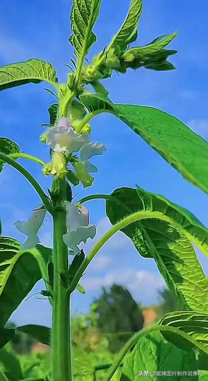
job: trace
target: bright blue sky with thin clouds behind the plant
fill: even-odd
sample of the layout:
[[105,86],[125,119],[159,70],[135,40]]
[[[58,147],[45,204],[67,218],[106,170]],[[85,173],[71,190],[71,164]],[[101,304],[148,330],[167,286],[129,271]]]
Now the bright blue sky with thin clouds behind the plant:
[[[122,6],[121,6],[122,3]],[[98,41],[88,58],[102,50],[110,42],[126,16],[130,0],[103,0],[100,16],[94,32]],[[27,2],[15,0],[1,1],[0,5],[0,65],[10,62],[38,58],[51,62],[56,67],[59,81],[63,82],[69,63],[73,57],[70,36],[69,14],[72,0],[37,0]],[[139,23],[138,41],[135,46],[149,43],[162,34],[178,30],[178,36],[170,48],[178,54],[170,61],[177,70],[154,72],[139,69],[127,74],[114,74],[104,82],[109,90],[109,98],[115,103],[131,103],[157,107],[178,117],[196,133],[208,139],[208,51],[207,46],[208,3],[201,0],[175,0],[164,2],[144,0]],[[18,143],[22,151],[49,161],[48,146],[39,142],[44,131],[41,123],[48,123],[48,106],[53,100],[44,91],[47,87],[25,85],[0,93],[1,136]],[[162,194],[173,202],[194,213],[208,225],[207,195],[187,183],[182,176],[168,165],[146,142],[136,136],[128,126],[112,115],[104,114],[92,122],[92,141],[106,145],[102,157],[94,159],[99,167],[93,187],[83,191],[75,189],[77,200],[91,193],[110,193],[120,186],[142,188]],[[42,176],[41,167],[35,163],[19,160],[46,189],[50,179]],[[17,219],[27,219],[31,209],[40,204],[34,189],[27,184],[13,168],[5,165],[0,175],[0,218],[2,234],[24,242],[24,236],[16,231],[13,223]],[[104,202],[89,202],[91,223],[98,228],[101,236],[110,224],[105,217]],[[51,219],[43,224],[40,238],[44,245],[52,244]],[[92,242],[86,245],[86,252]],[[199,253],[203,269],[208,275],[208,260]],[[123,283],[137,301],[144,304],[158,299],[157,290],[163,287],[163,280],[154,261],[144,259],[135,250],[131,241],[118,233],[94,259],[82,284],[86,294],[75,292],[72,296],[72,311],[86,311],[101,291],[101,286],[112,282]],[[43,288],[38,282],[32,292]],[[32,293],[31,293],[32,294]],[[33,296],[23,301],[14,312],[12,320],[18,324],[51,324],[51,309],[47,301]]]

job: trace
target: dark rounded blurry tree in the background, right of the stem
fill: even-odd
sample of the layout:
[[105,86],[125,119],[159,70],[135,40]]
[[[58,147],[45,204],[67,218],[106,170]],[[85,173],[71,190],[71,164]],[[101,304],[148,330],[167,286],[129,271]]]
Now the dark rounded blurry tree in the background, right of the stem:
[[103,287],[94,303],[98,328],[107,335],[111,352],[119,351],[132,333],[142,329],[141,306],[122,285],[113,284],[109,291]]

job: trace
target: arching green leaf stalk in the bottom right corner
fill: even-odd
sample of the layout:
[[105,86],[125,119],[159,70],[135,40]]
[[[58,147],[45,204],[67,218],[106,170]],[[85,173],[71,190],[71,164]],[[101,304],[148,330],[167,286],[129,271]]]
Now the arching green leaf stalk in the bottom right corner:
[[110,368],[109,375],[107,376],[105,381],[110,381],[115,371],[119,367],[120,363],[124,359],[125,355],[128,353],[128,351],[130,351],[133,345],[138,342],[139,339],[141,339],[145,335],[148,335],[151,332],[158,331],[158,330],[170,331],[170,332],[176,333],[182,336],[184,339],[187,339],[188,341],[190,341],[190,343],[192,343],[193,346],[198,347],[198,349],[201,349],[203,352],[208,354],[208,349],[206,349],[205,346],[203,346],[203,344],[193,339],[188,333],[181,331],[179,328],[170,327],[169,325],[154,324],[154,325],[151,325],[150,327],[144,328],[143,330],[137,332],[132,338],[129,339],[129,341],[126,343],[126,345],[122,348],[122,350],[116,357],[112,367]]

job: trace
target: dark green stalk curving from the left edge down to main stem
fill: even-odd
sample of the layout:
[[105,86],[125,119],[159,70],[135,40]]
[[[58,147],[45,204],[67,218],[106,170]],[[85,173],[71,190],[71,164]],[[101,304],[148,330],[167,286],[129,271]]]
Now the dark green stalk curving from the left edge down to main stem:
[[35,188],[35,191],[40,196],[43,205],[45,206],[46,210],[53,215],[53,203],[50,201],[50,199],[46,196],[45,192],[43,191],[42,187],[38,182],[34,179],[32,174],[30,174],[22,165],[17,163],[15,160],[13,160],[11,157],[8,157],[7,155],[4,155],[0,153],[0,160],[3,162],[13,166],[17,171],[19,171],[29,182],[30,184]]

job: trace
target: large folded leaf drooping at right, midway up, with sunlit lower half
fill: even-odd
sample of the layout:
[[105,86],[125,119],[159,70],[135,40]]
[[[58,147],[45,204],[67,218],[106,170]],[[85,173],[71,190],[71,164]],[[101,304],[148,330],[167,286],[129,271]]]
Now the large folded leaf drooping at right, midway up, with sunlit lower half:
[[119,188],[110,196],[118,200],[117,204],[106,201],[106,214],[112,224],[143,210],[168,216],[170,224],[159,219],[144,219],[122,231],[143,257],[155,259],[166,284],[186,309],[208,311],[208,280],[190,243],[196,243],[207,254],[207,229],[186,209],[142,188]]

